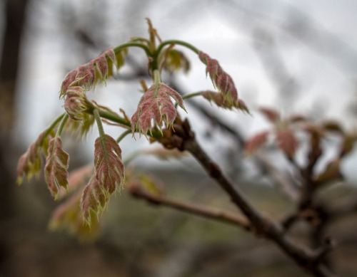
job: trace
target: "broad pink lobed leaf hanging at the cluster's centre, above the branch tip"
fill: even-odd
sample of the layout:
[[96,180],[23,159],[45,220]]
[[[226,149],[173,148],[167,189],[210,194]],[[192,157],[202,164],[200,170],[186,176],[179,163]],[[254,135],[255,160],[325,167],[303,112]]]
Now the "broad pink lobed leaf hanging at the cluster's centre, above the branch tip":
[[151,120],[154,120],[154,124],[160,129],[163,126],[163,121],[166,123],[166,127],[171,126],[176,118],[176,108],[170,97],[174,98],[183,110],[186,110],[181,95],[175,90],[164,83],[159,83],[158,87],[151,85],[141,97],[138,108],[131,117],[131,130],[146,135],[153,128]]

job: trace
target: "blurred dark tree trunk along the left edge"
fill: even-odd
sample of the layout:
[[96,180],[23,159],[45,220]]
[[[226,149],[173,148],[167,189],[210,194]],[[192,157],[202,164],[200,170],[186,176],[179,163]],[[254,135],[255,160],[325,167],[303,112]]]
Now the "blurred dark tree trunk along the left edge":
[[[5,1],[6,26],[4,28],[4,46],[0,64],[0,261],[6,258],[6,235],[9,233],[6,221],[11,219],[14,210],[14,155],[11,147],[11,128],[14,122],[14,103],[16,78],[19,64],[19,48],[24,28],[25,9],[28,0]],[[3,234],[5,232],[5,234]],[[11,233],[10,233],[11,234]]]

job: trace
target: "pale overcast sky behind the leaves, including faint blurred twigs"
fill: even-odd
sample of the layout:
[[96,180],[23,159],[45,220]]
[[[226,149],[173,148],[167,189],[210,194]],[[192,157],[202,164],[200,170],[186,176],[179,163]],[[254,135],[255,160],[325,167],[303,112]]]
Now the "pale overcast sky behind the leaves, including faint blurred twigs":
[[[146,36],[145,17],[151,19],[164,40],[188,41],[218,59],[232,75],[239,96],[253,115],[258,106],[268,105],[283,114],[339,120],[350,115],[348,122],[344,120],[346,125],[356,125],[346,107],[356,98],[357,1],[32,2],[22,48],[17,108],[16,137],[21,144],[28,145],[61,113],[63,103],[58,92],[66,71],[100,53],[92,49],[79,55],[81,44],[76,42],[76,31],[91,33],[89,22],[98,21],[91,24],[94,39],[103,47],[115,46],[131,36]],[[134,53],[138,61],[143,61],[140,53]],[[186,53],[192,69],[177,79],[183,89],[187,93],[211,89],[204,66],[193,53]],[[108,82],[105,89],[96,89],[94,98],[107,105],[120,103],[120,108],[131,115],[140,98],[138,88],[137,83]],[[291,92],[288,97],[282,97],[287,91]],[[231,125],[241,127],[244,135],[263,126],[256,114],[218,113]],[[199,130],[200,125],[196,127]]]

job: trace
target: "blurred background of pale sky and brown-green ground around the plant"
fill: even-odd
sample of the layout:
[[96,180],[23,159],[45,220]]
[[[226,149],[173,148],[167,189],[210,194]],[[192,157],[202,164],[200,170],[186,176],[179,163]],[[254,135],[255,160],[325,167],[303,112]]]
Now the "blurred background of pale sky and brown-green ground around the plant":
[[[291,202],[278,194],[253,163],[243,162],[237,136],[217,129],[216,119],[243,139],[263,130],[259,106],[282,115],[308,115],[356,127],[357,2],[342,1],[139,1],[4,0],[0,3],[0,276],[305,276],[276,246],[234,226],[153,207],[125,191],[112,197],[96,239],[49,231],[54,202],[43,177],[16,186],[16,162],[59,113],[58,92],[69,70],[131,36],[147,36],[149,17],[163,40],[179,39],[218,59],[233,78],[252,115],[214,109],[204,101],[186,106],[191,125],[259,209],[280,218]],[[187,75],[164,76],[181,93],[211,89],[198,58]],[[89,93],[128,115],[141,97],[146,57],[130,50],[117,80]],[[149,81],[149,79],[147,79]],[[205,115],[206,113],[206,115]],[[105,126],[117,137],[117,127]],[[94,140],[65,137],[71,169],[93,160]],[[157,146],[157,145],[156,145]],[[124,157],[149,146],[121,143]],[[136,170],[160,177],[167,194],[187,202],[235,211],[227,197],[189,157],[134,161]],[[150,166],[148,165],[150,164]],[[334,196],[356,197],[356,152],[343,167],[346,182]],[[355,209],[356,211],[356,209]],[[333,261],[341,276],[356,276],[356,212],[329,234],[338,238]]]

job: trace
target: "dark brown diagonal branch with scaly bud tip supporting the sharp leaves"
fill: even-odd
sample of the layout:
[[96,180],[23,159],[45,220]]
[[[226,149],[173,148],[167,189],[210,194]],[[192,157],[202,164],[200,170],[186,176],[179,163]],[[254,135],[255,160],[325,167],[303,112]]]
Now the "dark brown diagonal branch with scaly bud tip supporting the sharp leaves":
[[201,164],[207,174],[214,179],[219,186],[229,195],[231,201],[243,212],[251,221],[252,231],[266,239],[274,241],[288,256],[293,258],[302,268],[313,273],[315,276],[333,276],[320,261],[320,252],[313,252],[311,249],[296,244],[286,236],[283,226],[263,216],[251,203],[243,196],[238,188],[223,174],[218,164],[213,162],[206,155],[196,141],[188,121],[181,122],[178,118],[174,128],[163,131],[164,137],[159,138],[164,147],[169,149],[177,148],[180,151],[187,150]]

